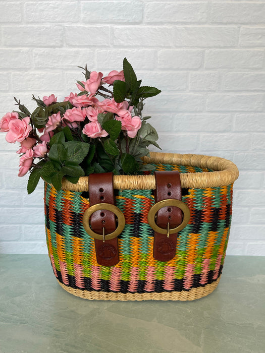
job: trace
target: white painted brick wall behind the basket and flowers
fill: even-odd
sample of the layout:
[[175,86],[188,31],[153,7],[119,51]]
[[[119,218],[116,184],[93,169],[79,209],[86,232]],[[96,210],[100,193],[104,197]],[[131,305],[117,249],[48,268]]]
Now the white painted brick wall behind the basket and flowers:
[[[0,114],[31,94],[60,99],[123,57],[162,89],[146,114],[163,150],[234,161],[228,254],[265,255],[265,0],[5,0],[0,12]],[[42,187],[28,196],[17,146],[0,136],[0,253],[45,253]]]

